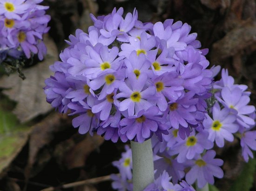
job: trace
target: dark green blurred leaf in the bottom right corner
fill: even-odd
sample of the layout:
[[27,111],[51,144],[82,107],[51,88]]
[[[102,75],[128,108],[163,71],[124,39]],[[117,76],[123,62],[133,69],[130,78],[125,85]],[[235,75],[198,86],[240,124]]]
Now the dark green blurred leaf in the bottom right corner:
[[256,168],[256,159],[250,159],[248,163],[244,164],[243,171],[236,178],[229,191],[249,191],[253,186],[253,178]]

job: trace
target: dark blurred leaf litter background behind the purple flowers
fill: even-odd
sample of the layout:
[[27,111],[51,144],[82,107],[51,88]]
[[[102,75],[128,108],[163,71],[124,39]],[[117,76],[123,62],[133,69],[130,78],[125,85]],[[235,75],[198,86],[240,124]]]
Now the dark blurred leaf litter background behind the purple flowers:
[[[256,105],[256,0],[44,0],[42,4],[49,6],[52,18],[44,37],[47,56],[22,70],[24,81],[17,73],[0,72],[0,191],[40,191],[50,186],[56,191],[112,191],[108,180],[61,188],[118,173],[111,163],[120,158],[125,144],[78,134],[72,117],[54,111],[42,89],[44,80],[53,75],[49,65],[59,60],[68,36],[77,28],[87,32],[93,24],[89,13],[108,14],[122,6],[125,15],[136,7],[142,22],[188,23],[202,48],[209,48],[211,66],[227,68],[236,83],[248,85],[251,105]],[[244,163],[239,141],[216,151],[224,160],[224,178],[216,179],[216,189],[256,191],[256,160]]]

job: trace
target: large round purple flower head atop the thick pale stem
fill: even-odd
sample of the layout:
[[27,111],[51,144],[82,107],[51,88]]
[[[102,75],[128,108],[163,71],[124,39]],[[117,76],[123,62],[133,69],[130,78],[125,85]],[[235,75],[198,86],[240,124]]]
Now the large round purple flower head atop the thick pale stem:
[[94,17],[88,34],[76,30],[46,80],[47,102],[78,115],[81,134],[143,142],[173,127],[182,138],[202,127],[214,69],[188,24],[142,23],[137,11]]

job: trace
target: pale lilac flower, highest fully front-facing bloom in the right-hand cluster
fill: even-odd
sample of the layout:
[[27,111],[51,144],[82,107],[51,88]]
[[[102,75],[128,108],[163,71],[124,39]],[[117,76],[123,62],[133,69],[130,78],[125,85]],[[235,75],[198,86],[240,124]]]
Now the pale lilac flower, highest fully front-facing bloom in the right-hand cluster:
[[224,146],[224,139],[233,141],[233,133],[236,133],[239,126],[235,123],[236,115],[230,114],[229,109],[221,110],[218,103],[213,106],[213,120],[208,114],[205,114],[206,119],[203,121],[205,130],[209,132],[208,139],[216,141],[217,146]]

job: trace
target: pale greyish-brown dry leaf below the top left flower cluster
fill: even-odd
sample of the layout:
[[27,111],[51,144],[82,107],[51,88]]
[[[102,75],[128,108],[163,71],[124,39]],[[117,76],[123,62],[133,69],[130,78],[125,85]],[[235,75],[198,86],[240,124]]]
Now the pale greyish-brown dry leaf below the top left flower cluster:
[[20,122],[29,121],[51,109],[42,88],[45,86],[45,79],[53,74],[49,65],[58,60],[58,51],[52,39],[46,36],[44,42],[48,53],[42,62],[22,71],[27,79],[21,80],[17,74],[0,79],[0,87],[6,89],[3,93],[17,102],[13,113]]

